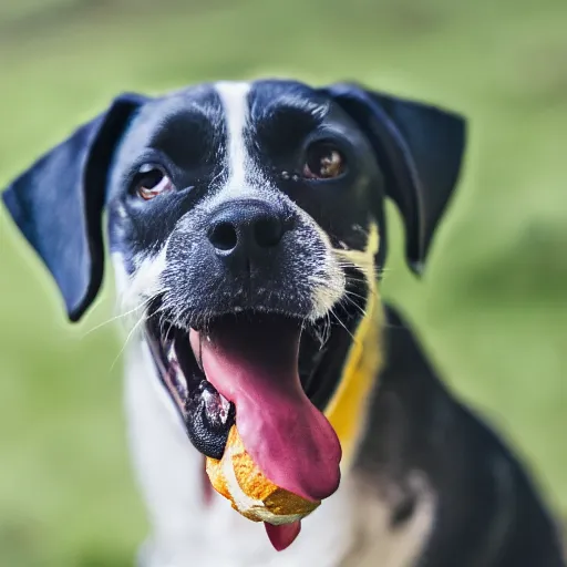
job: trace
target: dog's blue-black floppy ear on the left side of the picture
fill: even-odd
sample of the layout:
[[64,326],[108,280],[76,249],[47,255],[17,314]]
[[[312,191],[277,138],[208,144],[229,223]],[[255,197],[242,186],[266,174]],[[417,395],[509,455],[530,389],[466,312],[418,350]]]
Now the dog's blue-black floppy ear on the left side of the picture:
[[101,287],[102,213],[116,144],[147,99],[123,94],[2,194],[16,225],[51,271],[76,321]]

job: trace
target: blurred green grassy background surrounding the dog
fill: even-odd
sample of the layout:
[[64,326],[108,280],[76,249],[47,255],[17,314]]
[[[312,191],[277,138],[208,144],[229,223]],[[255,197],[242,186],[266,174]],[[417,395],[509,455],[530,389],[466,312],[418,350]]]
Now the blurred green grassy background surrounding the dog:
[[[2,0],[0,185],[118,91],[355,79],[470,120],[422,281],[396,213],[384,293],[567,517],[565,0]],[[75,327],[0,213],[0,565],[132,564],[146,524],[124,440],[111,275]],[[94,330],[93,330],[94,329]]]

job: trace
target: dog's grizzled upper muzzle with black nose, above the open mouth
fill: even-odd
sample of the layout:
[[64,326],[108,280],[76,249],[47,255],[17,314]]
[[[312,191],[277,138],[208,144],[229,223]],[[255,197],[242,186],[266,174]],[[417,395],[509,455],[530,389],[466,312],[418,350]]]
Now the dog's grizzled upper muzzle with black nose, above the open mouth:
[[182,218],[167,243],[163,281],[164,309],[197,328],[241,311],[313,320],[344,288],[317,225],[287,204],[259,198],[226,200]]

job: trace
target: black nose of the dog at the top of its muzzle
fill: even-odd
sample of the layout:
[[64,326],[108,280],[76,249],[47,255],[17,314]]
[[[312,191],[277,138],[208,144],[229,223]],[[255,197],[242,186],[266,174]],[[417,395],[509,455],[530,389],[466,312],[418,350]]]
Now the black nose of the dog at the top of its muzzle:
[[252,259],[278,246],[287,225],[277,203],[234,200],[213,213],[207,236],[218,256]]

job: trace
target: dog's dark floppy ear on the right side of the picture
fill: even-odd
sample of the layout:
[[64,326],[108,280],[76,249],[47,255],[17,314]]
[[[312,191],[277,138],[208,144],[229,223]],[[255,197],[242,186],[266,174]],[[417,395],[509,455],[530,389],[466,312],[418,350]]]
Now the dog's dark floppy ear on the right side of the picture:
[[465,145],[464,120],[352,84],[332,85],[324,92],[372,144],[385,175],[385,194],[404,220],[408,262],[421,274],[433,233],[457,182]]

